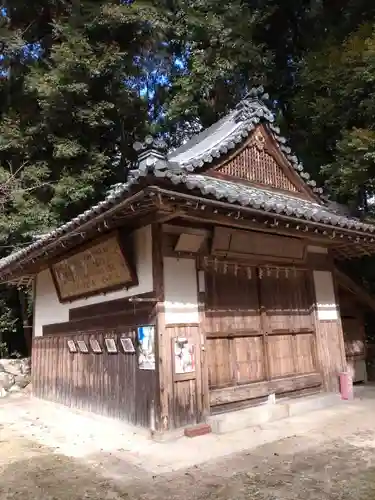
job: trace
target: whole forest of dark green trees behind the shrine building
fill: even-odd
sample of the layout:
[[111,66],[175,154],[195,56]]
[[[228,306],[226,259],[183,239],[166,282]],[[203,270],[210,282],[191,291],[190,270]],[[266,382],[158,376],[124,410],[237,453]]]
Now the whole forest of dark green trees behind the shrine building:
[[[373,216],[373,0],[0,6],[0,257],[124,182],[136,140],[177,146],[258,85],[326,194]],[[372,259],[358,266],[375,290]],[[27,350],[31,305],[0,285],[0,357]]]

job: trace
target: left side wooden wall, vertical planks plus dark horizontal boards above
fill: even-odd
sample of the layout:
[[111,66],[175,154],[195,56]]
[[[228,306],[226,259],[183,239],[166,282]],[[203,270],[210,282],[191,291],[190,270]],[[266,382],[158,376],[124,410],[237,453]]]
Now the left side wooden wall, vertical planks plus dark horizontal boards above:
[[[33,339],[33,394],[148,428],[151,406],[158,399],[156,372],[140,370],[138,353],[125,353],[120,338],[132,338],[137,349],[136,327],[153,324],[153,304],[109,301],[72,310],[71,318],[44,327],[44,336]],[[105,338],[115,339],[118,353],[105,350]],[[87,354],[69,352],[68,340],[89,345],[90,339],[99,342],[101,354],[90,348]]]

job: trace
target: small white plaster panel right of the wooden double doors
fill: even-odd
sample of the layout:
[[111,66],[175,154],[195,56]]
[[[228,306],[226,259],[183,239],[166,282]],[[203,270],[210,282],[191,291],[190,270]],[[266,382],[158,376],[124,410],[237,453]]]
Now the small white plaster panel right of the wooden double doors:
[[314,271],[314,287],[319,320],[337,320],[337,304],[330,271]]

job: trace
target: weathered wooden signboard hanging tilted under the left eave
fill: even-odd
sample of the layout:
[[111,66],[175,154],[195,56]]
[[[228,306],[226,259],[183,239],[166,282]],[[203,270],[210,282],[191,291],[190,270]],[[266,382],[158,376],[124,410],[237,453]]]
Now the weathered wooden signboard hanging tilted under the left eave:
[[117,234],[60,260],[51,271],[61,302],[137,284]]

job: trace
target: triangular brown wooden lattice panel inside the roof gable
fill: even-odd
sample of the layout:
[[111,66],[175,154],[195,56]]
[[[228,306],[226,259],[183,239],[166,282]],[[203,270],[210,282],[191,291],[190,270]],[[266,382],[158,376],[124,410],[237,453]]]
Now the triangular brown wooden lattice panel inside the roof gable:
[[311,196],[310,189],[296,174],[262,125],[254,131],[239,151],[210,173]]

